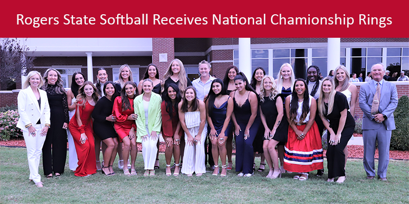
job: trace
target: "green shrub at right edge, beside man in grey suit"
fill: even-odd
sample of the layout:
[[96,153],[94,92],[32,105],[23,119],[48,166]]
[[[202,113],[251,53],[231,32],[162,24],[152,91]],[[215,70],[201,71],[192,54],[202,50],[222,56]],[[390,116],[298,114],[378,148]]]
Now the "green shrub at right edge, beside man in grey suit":
[[398,107],[393,113],[396,130],[392,131],[391,150],[409,150],[409,98],[399,98]]

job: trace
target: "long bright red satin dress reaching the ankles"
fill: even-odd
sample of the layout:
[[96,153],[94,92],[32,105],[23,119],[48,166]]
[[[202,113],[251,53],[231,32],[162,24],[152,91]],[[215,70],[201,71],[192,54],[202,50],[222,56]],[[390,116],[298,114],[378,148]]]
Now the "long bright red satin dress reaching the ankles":
[[[79,107],[75,110],[75,115],[71,118],[69,129],[73,136],[75,149],[78,156],[78,167],[75,170],[76,176],[86,176],[89,174],[97,173],[97,163],[95,161],[95,144],[94,144],[94,131],[92,127],[91,114],[93,113],[94,106],[90,105],[88,101],[85,101],[85,107]],[[79,111],[82,125],[78,126],[77,123],[77,111]],[[84,144],[81,144],[81,134],[85,133],[87,140]]]

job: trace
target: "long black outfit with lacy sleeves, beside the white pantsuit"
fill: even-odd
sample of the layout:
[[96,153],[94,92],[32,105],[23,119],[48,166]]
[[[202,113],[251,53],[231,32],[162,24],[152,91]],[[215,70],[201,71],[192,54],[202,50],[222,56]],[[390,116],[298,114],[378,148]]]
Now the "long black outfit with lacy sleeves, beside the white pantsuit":
[[[44,175],[63,173],[67,156],[67,131],[62,128],[64,122],[70,122],[67,105],[67,94],[58,94],[57,85],[48,85],[47,92],[50,104],[51,127],[47,132],[46,141],[42,146],[42,166]],[[51,146],[53,148],[51,148]]]

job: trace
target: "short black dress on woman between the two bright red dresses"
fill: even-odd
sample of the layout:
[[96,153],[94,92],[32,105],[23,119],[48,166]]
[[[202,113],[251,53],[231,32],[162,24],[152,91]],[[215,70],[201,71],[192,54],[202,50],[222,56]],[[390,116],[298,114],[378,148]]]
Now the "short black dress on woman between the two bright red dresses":
[[93,111],[94,134],[101,140],[118,137],[117,132],[113,129],[112,122],[106,120],[106,117],[112,114],[113,101],[103,96],[98,100]]

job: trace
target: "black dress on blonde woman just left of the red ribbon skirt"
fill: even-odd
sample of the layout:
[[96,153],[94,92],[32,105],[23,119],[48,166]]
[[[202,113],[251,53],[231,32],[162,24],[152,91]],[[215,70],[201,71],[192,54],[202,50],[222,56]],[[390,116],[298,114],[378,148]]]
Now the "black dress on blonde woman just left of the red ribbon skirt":
[[[265,121],[270,130],[272,130],[272,127],[274,127],[274,124],[276,124],[276,120],[278,116],[278,111],[277,111],[277,106],[276,106],[277,97],[281,97],[281,94],[277,95],[273,100],[270,100],[268,96],[265,96],[264,102],[260,103],[261,111],[264,114]],[[276,133],[274,134],[272,139],[277,140],[279,142],[287,142],[287,137],[288,137],[288,121],[285,118],[285,115],[283,115],[280,125],[277,127]],[[263,138],[264,138],[264,135],[263,135]],[[264,138],[264,140],[266,139]]]

